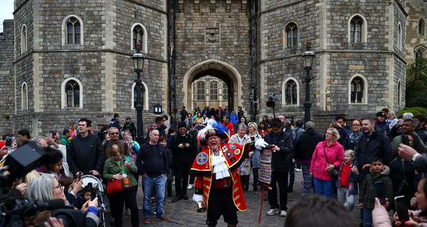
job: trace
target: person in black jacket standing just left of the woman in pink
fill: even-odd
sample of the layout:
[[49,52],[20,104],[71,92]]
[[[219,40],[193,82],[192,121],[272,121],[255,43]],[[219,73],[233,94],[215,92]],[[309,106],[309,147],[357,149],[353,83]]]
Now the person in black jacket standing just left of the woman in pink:
[[317,143],[322,141],[322,135],[315,131],[315,123],[307,121],[305,123],[305,132],[300,135],[295,143],[295,160],[301,164],[302,177],[304,178],[304,192],[302,198],[310,194],[311,188],[314,187],[313,177],[310,176],[310,165],[313,153]]

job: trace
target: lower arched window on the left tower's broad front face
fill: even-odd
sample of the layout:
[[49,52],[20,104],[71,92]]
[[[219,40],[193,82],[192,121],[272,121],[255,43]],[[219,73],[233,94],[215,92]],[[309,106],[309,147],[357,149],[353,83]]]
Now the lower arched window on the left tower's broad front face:
[[83,85],[77,78],[65,79],[60,93],[61,108],[83,108]]

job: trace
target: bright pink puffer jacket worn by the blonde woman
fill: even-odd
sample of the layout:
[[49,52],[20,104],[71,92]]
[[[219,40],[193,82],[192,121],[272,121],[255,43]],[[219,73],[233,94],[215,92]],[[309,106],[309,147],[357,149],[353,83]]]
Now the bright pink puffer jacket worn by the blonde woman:
[[[325,157],[326,154],[326,157]],[[326,161],[327,159],[327,161]],[[325,171],[327,164],[338,166],[344,160],[344,148],[337,141],[330,146],[327,145],[326,140],[317,143],[315,152],[312,156],[310,165],[310,172],[313,177],[321,180],[331,180],[330,172]]]

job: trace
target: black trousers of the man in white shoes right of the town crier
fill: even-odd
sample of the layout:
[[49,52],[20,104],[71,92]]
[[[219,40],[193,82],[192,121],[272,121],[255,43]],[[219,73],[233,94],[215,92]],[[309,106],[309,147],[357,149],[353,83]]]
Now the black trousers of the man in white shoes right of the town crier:
[[[278,204],[278,187],[279,185],[279,196],[280,196],[280,205]],[[288,171],[271,172],[271,190],[268,191],[268,204],[270,204],[271,209],[279,208],[282,211],[288,210]]]

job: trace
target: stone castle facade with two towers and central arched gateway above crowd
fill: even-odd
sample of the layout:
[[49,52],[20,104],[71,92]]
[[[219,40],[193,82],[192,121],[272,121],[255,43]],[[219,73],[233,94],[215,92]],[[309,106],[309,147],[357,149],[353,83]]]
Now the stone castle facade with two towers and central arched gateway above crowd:
[[136,43],[147,56],[144,128],[160,116],[156,104],[172,119],[181,106],[194,109],[195,84],[210,77],[221,99],[211,107],[243,106],[258,121],[275,92],[276,113],[303,118],[307,42],[316,53],[310,99],[318,125],[337,114],[398,111],[406,63],[425,48],[413,31],[419,4],[426,9],[422,0],[16,0],[0,35],[0,133],[44,135],[81,117],[98,128],[114,113],[136,122]]

